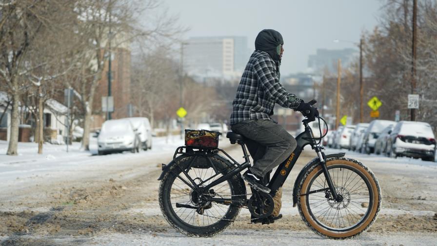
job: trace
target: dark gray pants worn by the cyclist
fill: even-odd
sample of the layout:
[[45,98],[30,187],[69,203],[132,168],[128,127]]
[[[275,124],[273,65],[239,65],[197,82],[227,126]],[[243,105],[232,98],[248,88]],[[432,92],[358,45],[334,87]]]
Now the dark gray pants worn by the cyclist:
[[269,120],[237,123],[231,125],[231,129],[247,138],[245,143],[254,159],[251,169],[260,177],[285,161],[298,145],[281,125]]

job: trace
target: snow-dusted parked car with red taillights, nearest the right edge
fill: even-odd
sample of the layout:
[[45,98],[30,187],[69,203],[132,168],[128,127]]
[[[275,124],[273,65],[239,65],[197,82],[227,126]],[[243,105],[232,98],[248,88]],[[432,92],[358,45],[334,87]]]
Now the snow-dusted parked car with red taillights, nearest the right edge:
[[387,152],[394,158],[409,156],[434,162],[436,138],[431,126],[425,122],[398,122],[387,140]]

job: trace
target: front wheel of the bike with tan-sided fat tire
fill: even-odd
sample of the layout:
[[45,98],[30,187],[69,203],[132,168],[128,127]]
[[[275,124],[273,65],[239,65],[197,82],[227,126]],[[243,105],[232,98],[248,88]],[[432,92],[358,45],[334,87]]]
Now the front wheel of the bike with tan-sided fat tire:
[[321,165],[315,165],[299,186],[300,216],[319,235],[334,239],[357,236],[376,221],[381,205],[377,179],[353,159],[329,158],[326,166],[340,201],[332,198]]

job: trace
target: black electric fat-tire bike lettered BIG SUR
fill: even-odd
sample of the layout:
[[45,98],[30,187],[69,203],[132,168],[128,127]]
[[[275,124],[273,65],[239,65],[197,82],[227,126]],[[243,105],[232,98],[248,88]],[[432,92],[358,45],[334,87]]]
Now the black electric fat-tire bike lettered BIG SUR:
[[296,178],[293,207],[298,206],[305,224],[321,236],[346,239],[366,231],[376,221],[381,205],[375,175],[360,162],[345,158],[345,153],[325,155],[320,147],[324,137],[320,124],[321,137],[315,138],[310,120],[302,122],[305,131],[296,137],[297,148],[279,164],[267,185],[270,193],[254,188],[252,194],[246,193],[240,172],[251,164],[243,136],[234,132],[226,135],[232,144],[241,146],[243,164],[219,148],[178,147],[173,161],[162,164],[158,179],[159,205],[165,219],[185,235],[211,237],[231,225],[242,207],[255,218],[268,218],[274,208],[272,197],[284,184],[303,147],[311,145],[317,157]]

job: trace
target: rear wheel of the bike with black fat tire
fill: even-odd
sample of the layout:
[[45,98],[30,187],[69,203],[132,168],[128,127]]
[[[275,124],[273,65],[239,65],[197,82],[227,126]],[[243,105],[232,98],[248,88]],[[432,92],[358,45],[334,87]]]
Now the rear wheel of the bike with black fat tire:
[[[197,159],[190,166],[193,158]],[[210,157],[210,160],[214,167],[204,157],[195,156],[183,157],[179,159],[179,164],[196,184],[200,184],[217,172],[229,167],[218,158]],[[189,166],[190,168],[188,168]],[[219,176],[206,182],[205,185],[210,184]],[[208,191],[208,194],[198,194],[181,179],[188,180],[180,168],[173,164],[159,185],[159,205],[162,214],[170,225],[187,236],[210,237],[232,224],[240,207],[205,202],[202,196],[245,199],[246,191],[240,177],[233,176],[228,181],[214,186]],[[200,207],[201,209],[187,206]]]

